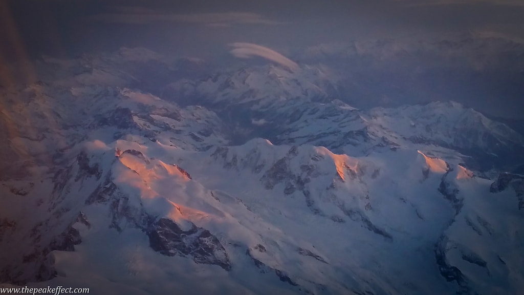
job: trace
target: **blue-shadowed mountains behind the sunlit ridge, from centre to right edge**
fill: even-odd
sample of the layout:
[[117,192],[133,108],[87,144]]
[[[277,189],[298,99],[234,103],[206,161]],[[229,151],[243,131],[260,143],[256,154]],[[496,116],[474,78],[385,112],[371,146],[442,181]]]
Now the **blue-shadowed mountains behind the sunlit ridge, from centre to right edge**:
[[482,113],[456,102],[358,110],[341,100],[336,79],[330,80],[326,71],[310,66],[297,73],[274,66],[242,68],[179,81],[168,87],[165,98],[190,98],[241,126],[247,137],[279,144],[310,143],[358,155],[384,147],[433,153],[452,149],[482,170],[524,161],[524,137]]

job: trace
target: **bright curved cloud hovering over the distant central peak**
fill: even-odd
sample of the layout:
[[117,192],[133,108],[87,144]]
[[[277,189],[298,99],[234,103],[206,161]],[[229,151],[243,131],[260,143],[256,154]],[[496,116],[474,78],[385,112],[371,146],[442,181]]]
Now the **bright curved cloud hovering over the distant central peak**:
[[232,43],[230,44],[231,54],[238,58],[252,58],[254,56],[263,57],[271,61],[275,61],[277,64],[285,66],[290,70],[294,71],[299,68],[296,62],[289,58],[279,54],[277,51],[270,48],[260,46],[253,43]]

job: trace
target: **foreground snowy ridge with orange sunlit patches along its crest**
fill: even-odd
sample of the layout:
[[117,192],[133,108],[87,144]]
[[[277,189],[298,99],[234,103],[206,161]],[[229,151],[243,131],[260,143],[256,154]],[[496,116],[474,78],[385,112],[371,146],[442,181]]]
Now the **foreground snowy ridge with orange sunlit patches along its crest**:
[[[60,186],[67,193],[54,198],[51,210],[67,214],[48,219],[41,231],[52,224],[72,224],[81,242],[74,252],[51,248],[51,256],[45,255],[54,258],[44,261],[56,261],[47,275],[52,278],[56,268],[51,282],[67,283],[81,273],[101,271],[102,261],[95,257],[114,256],[118,248],[98,244],[121,245],[131,252],[111,258],[113,268],[103,271],[112,283],[96,284],[127,284],[132,293],[167,290],[162,267],[171,269],[171,282],[184,278],[187,269],[218,267],[213,273],[222,275],[206,275],[214,282],[210,284],[235,293],[244,288],[257,293],[439,294],[484,288],[511,293],[524,283],[509,276],[510,269],[520,268],[518,244],[508,245],[511,251],[497,246],[510,237],[518,243],[512,231],[516,225],[507,224],[522,223],[517,198],[504,192],[508,196],[494,208],[490,181],[458,166],[443,170],[447,164],[442,160],[417,151],[358,159],[266,140],[206,152],[144,142],[92,142],[70,169],[55,176],[64,181]],[[74,197],[79,192],[85,201]],[[458,209],[454,202],[460,203]],[[508,215],[515,217],[500,218]],[[17,231],[22,232],[24,227]],[[179,240],[177,232],[195,238]],[[485,241],[471,244],[476,239]],[[420,252],[420,258],[414,259],[412,251]],[[171,258],[160,263],[162,255]],[[195,265],[174,267],[187,258]],[[98,262],[81,270],[82,264],[74,261],[84,259]],[[41,263],[40,269],[51,267]],[[450,275],[447,269],[455,268]],[[147,277],[149,271],[165,275]],[[412,272],[419,275],[409,279]],[[220,282],[223,276],[227,280]],[[499,283],[486,286],[490,276]],[[154,281],[156,287],[143,289],[128,283],[131,278]],[[23,278],[11,281],[17,279]],[[240,283],[246,279],[247,285]],[[260,280],[270,289],[257,289]],[[206,286],[190,283],[179,290],[206,292]]]

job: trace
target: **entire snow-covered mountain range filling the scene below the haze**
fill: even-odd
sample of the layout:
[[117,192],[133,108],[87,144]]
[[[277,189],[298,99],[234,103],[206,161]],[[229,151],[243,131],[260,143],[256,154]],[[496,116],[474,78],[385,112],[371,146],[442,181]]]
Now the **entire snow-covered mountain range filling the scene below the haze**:
[[[306,65],[170,81],[157,97],[126,69],[160,57],[99,59],[132,65],[105,62],[84,79],[80,61],[51,60],[63,79],[0,90],[0,282],[122,294],[524,289],[524,177],[475,171],[488,154],[522,162],[524,140],[506,125],[453,102],[358,110],[327,69]],[[173,65],[188,63],[201,61]]]

